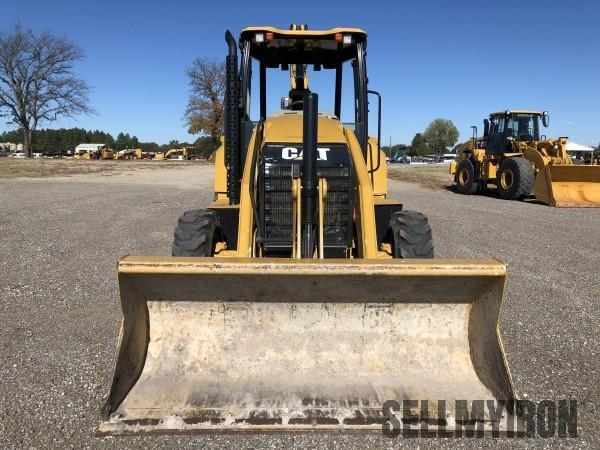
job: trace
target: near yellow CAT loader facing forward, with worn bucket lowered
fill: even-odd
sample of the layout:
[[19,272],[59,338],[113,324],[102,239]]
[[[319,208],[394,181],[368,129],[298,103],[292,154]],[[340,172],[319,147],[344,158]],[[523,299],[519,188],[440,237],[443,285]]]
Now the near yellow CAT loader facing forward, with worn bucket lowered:
[[[505,265],[433,259],[427,218],[388,197],[366,33],[250,27],[226,42],[214,202],[179,218],[172,257],[119,261],[98,433],[381,432],[384,403],[406,399],[429,402],[418,417],[404,408],[411,420],[451,429],[438,401],[514,399],[498,332]],[[267,72],[282,70],[290,90],[271,93]],[[332,112],[309,71],[331,71]],[[284,94],[281,110],[267,114],[268,94]]]

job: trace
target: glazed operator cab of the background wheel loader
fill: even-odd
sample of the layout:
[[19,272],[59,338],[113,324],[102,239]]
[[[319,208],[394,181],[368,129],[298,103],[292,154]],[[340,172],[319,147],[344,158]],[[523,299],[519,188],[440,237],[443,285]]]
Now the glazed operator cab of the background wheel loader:
[[546,111],[503,111],[490,114],[484,120],[486,150],[490,154],[512,151],[512,142],[533,142],[540,140],[540,118],[544,127],[548,126]]

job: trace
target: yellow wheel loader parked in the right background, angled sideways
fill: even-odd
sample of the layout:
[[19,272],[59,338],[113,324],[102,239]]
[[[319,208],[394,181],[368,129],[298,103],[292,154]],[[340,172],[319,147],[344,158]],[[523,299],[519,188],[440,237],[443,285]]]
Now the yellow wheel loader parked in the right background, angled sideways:
[[600,167],[575,165],[566,151],[567,138],[546,139],[546,111],[506,110],[484,120],[482,137],[467,142],[450,166],[456,189],[474,194],[496,185],[506,200],[527,197],[556,207],[600,207]]

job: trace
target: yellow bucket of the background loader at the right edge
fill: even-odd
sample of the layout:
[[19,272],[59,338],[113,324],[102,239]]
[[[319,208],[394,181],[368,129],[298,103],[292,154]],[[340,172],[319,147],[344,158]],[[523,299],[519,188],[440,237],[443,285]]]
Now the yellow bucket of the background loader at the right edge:
[[551,165],[535,177],[535,197],[563,208],[600,207],[600,166]]

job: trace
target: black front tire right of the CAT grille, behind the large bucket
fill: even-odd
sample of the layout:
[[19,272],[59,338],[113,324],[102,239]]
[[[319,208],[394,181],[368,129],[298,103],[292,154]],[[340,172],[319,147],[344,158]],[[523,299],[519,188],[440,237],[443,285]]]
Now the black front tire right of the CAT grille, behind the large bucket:
[[433,258],[433,238],[427,217],[417,211],[392,214],[386,242],[394,258]]

